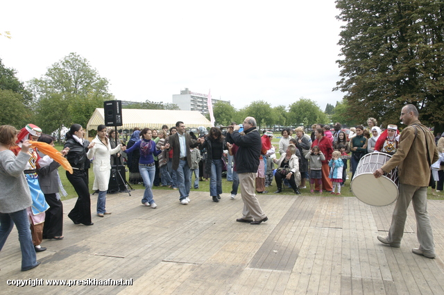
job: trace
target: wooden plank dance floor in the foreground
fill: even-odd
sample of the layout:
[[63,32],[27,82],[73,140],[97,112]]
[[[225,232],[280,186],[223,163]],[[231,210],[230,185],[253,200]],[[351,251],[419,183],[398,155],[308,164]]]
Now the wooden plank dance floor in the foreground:
[[[178,191],[155,190],[157,209],[142,206],[142,194],[109,194],[112,214],[92,210],[94,226],[74,225],[67,212],[76,199],[65,201],[65,239],[44,240],[48,250],[37,253],[42,264],[31,271],[20,271],[14,229],[0,252],[0,294],[444,294],[444,201],[428,203],[431,260],[411,253],[418,247],[411,207],[401,248],[391,248],[376,237],[386,235],[393,205],[259,196],[269,220],[253,226],[235,221],[239,194],[214,203],[207,192],[191,191],[191,203],[181,205]],[[30,279],[42,285],[8,285]],[[109,279],[133,285],[90,285]],[[46,280],[71,280],[71,287]]]

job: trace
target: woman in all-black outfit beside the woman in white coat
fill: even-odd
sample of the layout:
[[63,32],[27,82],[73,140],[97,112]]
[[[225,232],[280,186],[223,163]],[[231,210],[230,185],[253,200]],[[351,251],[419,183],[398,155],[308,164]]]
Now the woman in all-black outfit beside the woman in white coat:
[[67,171],[67,178],[78,194],[76,205],[71,212],[69,212],[68,217],[74,224],[92,226],[91,199],[87,185],[85,161],[87,159],[87,150],[91,149],[94,144],[89,144],[85,148],[85,146],[83,146],[83,142],[85,141],[83,140],[83,134],[82,126],[73,124],[66,135],[67,141],[65,142],[65,148],[69,148],[66,158],[74,171],[73,174],[69,174]]

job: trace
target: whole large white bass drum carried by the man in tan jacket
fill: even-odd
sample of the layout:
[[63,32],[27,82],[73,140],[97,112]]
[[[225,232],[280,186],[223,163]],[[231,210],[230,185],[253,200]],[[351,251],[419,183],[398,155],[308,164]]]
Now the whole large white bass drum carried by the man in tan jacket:
[[381,168],[391,155],[368,153],[359,160],[350,187],[360,201],[373,206],[390,205],[398,199],[398,170],[395,168],[379,178],[373,172]]

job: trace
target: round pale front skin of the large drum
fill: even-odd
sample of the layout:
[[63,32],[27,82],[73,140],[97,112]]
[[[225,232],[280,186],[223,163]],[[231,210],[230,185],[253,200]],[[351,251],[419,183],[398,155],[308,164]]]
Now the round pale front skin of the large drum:
[[398,199],[398,186],[386,176],[375,178],[373,173],[360,174],[353,178],[350,187],[353,194],[368,205],[386,206]]

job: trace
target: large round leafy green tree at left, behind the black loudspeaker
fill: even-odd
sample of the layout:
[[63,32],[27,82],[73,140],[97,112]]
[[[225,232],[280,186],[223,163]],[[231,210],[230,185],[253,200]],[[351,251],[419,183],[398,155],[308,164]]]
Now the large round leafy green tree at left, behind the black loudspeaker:
[[[54,63],[42,78],[29,81],[28,89],[35,97],[37,124],[47,128],[73,123],[86,127],[94,110],[103,108],[103,101],[113,99],[108,92],[108,80],[76,53]],[[47,108],[56,105],[63,116],[48,114],[53,109]],[[57,121],[49,123],[48,117]],[[54,129],[43,130],[49,133]]]

